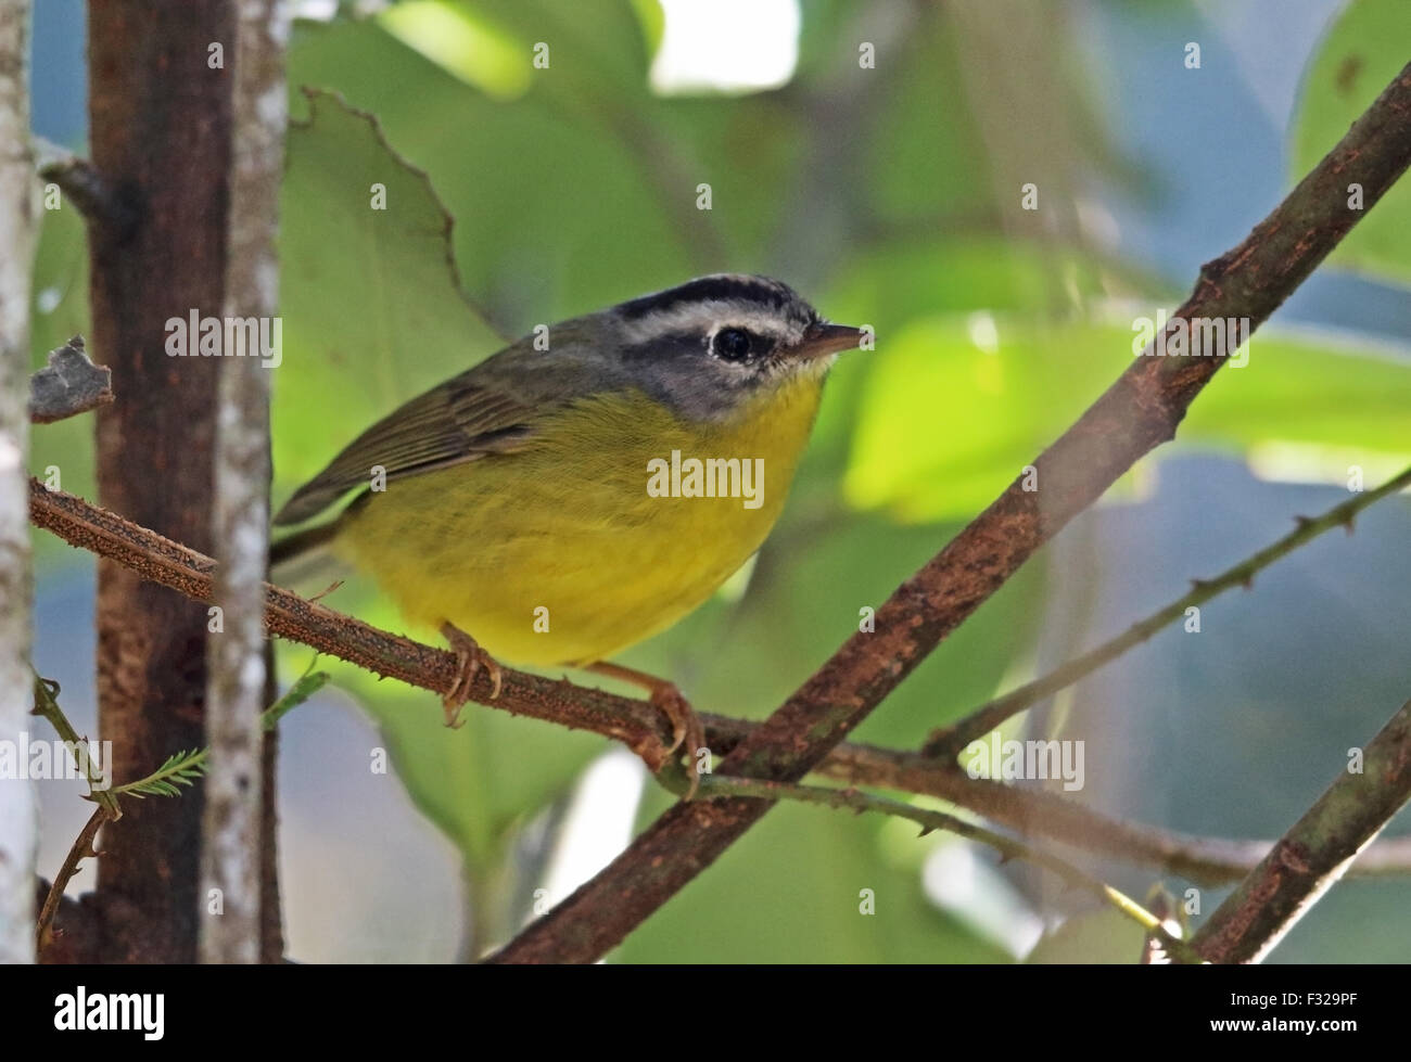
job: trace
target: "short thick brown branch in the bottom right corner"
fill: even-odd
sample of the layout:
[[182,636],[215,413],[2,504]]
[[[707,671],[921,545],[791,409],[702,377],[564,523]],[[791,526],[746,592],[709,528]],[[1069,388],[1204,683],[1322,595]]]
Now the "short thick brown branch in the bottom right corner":
[[1259,962],[1411,800],[1411,701],[1191,939],[1209,962]]

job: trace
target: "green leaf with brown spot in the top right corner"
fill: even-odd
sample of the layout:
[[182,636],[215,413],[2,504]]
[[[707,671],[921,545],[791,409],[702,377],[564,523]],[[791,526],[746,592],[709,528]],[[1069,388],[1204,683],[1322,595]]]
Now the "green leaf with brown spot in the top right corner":
[[[1301,179],[1348,133],[1407,65],[1411,4],[1353,0],[1308,65],[1292,126],[1292,171]],[[1352,196],[1348,189],[1339,195]],[[1411,182],[1398,181],[1343,237],[1329,262],[1401,285],[1411,283]]]

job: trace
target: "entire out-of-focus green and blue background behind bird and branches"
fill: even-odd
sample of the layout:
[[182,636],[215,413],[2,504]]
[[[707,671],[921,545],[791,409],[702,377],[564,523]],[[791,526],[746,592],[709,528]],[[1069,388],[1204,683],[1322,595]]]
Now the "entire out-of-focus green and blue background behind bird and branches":
[[[302,0],[282,200],[275,502],[402,401],[518,336],[711,271],[765,272],[876,329],[844,358],[780,526],[622,663],[762,718],[1132,358],[1408,58],[1404,0]],[[80,0],[35,11],[34,123],[83,149]],[[535,58],[540,56],[536,66]],[[350,107],[375,116],[368,121]],[[413,169],[415,168],[415,169]],[[425,173],[425,175],[423,175]],[[370,210],[370,186],[392,205]],[[698,209],[708,185],[710,209]],[[1033,185],[1037,209],[1026,210]],[[443,212],[454,217],[457,274]],[[1411,463],[1411,182],[1147,458],[947,640],[856,738],[916,747]],[[71,209],[45,216],[35,361],[86,330]],[[457,289],[459,283],[459,289]],[[99,351],[102,355],[102,351]],[[93,495],[92,422],[34,433]],[[179,485],[174,485],[179,489]],[[93,561],[37,536],[35,663],[95,725]],[[1411,697],[1411,506],[1373,506],[1250,591],[1006,732],[1085,742],[1082,802],[1281,834]],[[391,629],[350,580],[327,599]],[[409,632],[436,640],[429,632]],[[279,646],[281,676],[310,650]],[[320,661],[282,724],[289,955],[452,962],[507,939],[667,805],[591,735]],[[392,769],[374,769],[387,750]],[[155,764],[154,764],[155,766]],[[44,783],[41,867],[87,811]],[[1403,815],[1390,834],[1405,832]],[[1150,869],[1084,857],[1140,897]],[[90,886],[92,870],[73,890]],[[876,914],[858,913],[859,890]],[[1204,913],[1222,893],[1205,891]],[[1273,960],[1404,960],[1411,881],[1349,880]],[[780,807],[646,922],[624,962],[1130,962],[1139,936],[909,824]]]

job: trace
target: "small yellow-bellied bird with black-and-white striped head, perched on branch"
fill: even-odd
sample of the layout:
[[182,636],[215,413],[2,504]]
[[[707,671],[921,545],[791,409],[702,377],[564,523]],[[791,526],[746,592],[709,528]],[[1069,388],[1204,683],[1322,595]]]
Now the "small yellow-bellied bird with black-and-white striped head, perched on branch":
[[672,683],[605,663],[704,602],[769,535],[838,353],[862,331],[787,285],[720,274],[528,336],[354,439],[275,516],[330,547],[461,660],[447,722],[499,656],[645,688],[691,753]]

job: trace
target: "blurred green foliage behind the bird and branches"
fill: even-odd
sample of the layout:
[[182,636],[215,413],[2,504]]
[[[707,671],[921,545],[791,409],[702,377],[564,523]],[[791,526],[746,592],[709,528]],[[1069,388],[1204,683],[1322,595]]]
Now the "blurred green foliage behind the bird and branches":
[[[1129,322],[1178,296],[1081,227],[1038,228],[1016,214],[1017,189],[998,188],[989,161],[1005,130],[965,106],[974,83],[957,25],[944,6],[890,10],[875,71],[858,65],[856,8],[807,3],[786,87],[669,99],[648,87],[662,31],[650,0],[416,0],[377,18],[299,24],[281,207],[277,503],[377,416],[485,357],[501,336],[701,272],[780,275],[828,316],[875,326],[878,350],[835,371],[790,506],[742,597],[717,597],[624,660],[673,677],[700,709],[766,715],[856,628],[862,606],[880,605],[1126,368]],[[1304,93],[1300,172],[1404,59],[1404,34],[1391,31],[1401,16],[1404,0],[1362,0],[1335,27]],[[536,42],[549,45],[546,71],[531,66]],[[303,86],[341,93],[381,133]],[[1088,176],[1130,176],[1099,142],[1085,92],[1044,103],[1088,131],[1092,149],[1077,152],[1098,169]],[[703,182],[710,212],[696,209]],[[385,210],[370,209],[374,185]],[[1343,261],[1404,281],[1408,214],[1403,183]],[[85,330],[85,288],[82,227],[72,210],[48,214],[37,360]],[[1260,333],[1250,365],[1222,374],[1182,440],[1405,457],[1408,401],[1405,361]],[[34,465],[61,461],[63,485],[90,492],[89,430],[44,429]],[[858,739],[914,746],[1006,677],[1027,676],[1043,594],[1036,563]],[[399,628],[357,580],[329,604]],[[525,824],[605,746],[474,707],[450,732],[430,695],[332,670],[381,725],[408,791],[471,883],[501,874]],[[653,794],[649,808],[663,800]],[[888,856],[880,838],[871,818],[779,808],[622,956],[1005,958],[930,905],[917,863]],[[935,841],[917,842],[914,860]],[[861,889],[879,896],[875,918],[856,914]],[[487,890],[473,903],[499,900]],[[1074,924],[1046,955],[1082,946]]]

